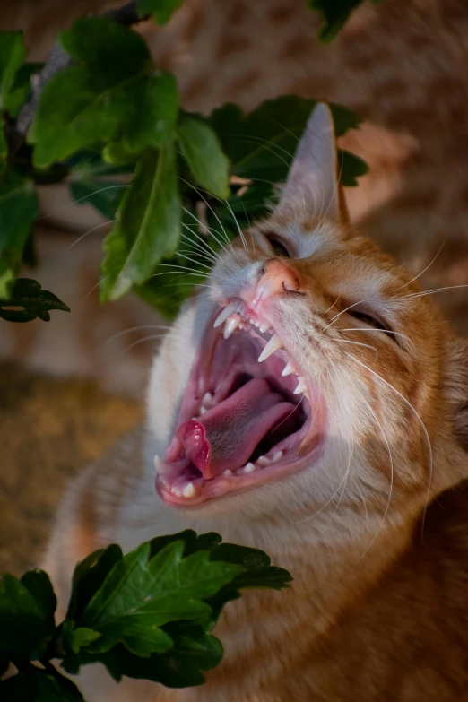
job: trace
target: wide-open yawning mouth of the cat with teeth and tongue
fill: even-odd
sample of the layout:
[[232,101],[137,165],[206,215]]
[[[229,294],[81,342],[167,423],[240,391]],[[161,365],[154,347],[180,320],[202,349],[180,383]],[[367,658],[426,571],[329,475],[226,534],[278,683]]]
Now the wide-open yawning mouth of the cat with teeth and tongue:
[[156,487],[195,507],[312,464],[325,408],[270,322],[234,299],[204,330],[176,426]]

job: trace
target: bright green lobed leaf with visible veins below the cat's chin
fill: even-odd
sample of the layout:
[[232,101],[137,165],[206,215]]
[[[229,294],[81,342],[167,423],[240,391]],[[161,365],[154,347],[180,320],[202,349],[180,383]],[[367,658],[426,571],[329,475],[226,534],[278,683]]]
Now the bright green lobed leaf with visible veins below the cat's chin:
[[210,615],[203,600],[242,568],[211,562],[205,550],[184,558],[184,549],[184,542],[169,543],[150,559],[151,544],[145,543],[115,565],[82,615],[82,625],[104,637],[91,652],[118,642],[140,656],[167,651],[172,639],[161,625]]

